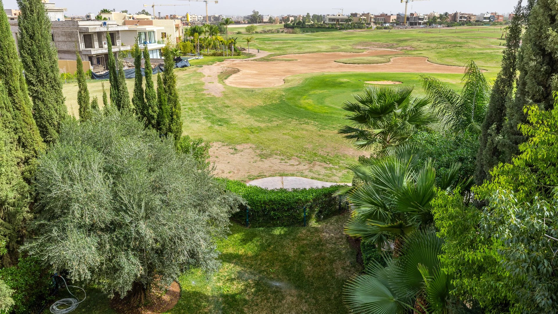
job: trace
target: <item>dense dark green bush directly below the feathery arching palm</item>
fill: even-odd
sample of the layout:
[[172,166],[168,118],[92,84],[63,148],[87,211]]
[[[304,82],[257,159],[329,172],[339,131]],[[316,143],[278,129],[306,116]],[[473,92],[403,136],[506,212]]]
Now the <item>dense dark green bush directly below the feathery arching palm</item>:
[[411,142],[422,151],[419,166],[432,158],[437,178],[447,174],[452,163],[461,163],[459,170],[461,179],[474,175],[479,149],[478,135],[468,132],[455,134],[453,132],[422,131],[413,135]]

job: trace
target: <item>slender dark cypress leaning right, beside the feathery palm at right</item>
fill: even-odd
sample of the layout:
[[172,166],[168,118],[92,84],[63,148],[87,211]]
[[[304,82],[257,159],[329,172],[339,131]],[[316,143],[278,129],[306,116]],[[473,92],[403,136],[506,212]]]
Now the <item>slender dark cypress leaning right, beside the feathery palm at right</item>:
[[488,179],[490,169],[499,162],[505,161],[502,158],[503,152],[499,145],[504,122],[506,121],[506,102],[513,98],[513,87],[517,80],[517,55],[523,31],[522,0],[518,1],[514,12],[516,15],[509,25],[506,49],[503,51],[502,70],[500,70],[496,82],[494,82],[487,115],[481,128],[475,172],[475,180],[478,185]]

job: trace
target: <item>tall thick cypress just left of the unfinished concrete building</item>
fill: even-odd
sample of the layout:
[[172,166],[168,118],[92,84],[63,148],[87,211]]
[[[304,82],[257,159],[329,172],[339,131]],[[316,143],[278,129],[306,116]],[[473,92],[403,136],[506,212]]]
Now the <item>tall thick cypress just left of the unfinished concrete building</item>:
[[33,101],[33,117],[42,138],[56,141],[60,123],[68,117],[64,104],[58,52],[52,45],[51,22],[40,0],[17,0],[21,14],[18,44],[25,78]]

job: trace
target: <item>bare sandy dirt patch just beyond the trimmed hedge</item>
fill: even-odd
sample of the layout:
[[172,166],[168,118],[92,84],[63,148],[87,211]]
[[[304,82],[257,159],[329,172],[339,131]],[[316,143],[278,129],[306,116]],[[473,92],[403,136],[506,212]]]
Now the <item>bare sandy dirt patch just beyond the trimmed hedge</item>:
[[272,177],[273,174],[282,173],[296,173],[306,177],[312,175],[312,170],[332,167],[318,161],[304,161],[296,157],[285,159],[281,156],[265,154],[264,158],[264,152],[256,149],[252,144],[229,146],[216,142],[211,144],[209,154],[211,155],[209,160],[215,163],[215,175],[237,180]]

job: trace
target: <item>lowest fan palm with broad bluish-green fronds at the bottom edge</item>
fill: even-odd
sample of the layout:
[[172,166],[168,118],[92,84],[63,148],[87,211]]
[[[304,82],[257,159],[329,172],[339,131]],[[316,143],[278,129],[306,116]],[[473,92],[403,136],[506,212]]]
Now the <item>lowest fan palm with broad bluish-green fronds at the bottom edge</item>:
[[432,228],[405,239],[398,258],[369,266],[364,275],[350,279],[345,300],[362,314],[446,314],[451,276],[440,269],[443,241]]

